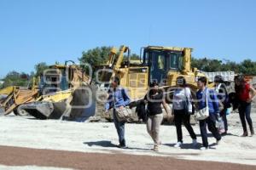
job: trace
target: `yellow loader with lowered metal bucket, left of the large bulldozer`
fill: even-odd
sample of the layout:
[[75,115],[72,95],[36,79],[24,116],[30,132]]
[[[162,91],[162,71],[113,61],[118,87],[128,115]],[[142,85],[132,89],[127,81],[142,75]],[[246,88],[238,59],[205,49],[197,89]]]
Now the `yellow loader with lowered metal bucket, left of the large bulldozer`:
[[[90,77],[78,65],[51,65],[41,77],[41,96],[34,102],[20,105],[38,119],[63,119],[84,122],[95,114],[95,89]],[[90,105],[89,105],[90,103]]]

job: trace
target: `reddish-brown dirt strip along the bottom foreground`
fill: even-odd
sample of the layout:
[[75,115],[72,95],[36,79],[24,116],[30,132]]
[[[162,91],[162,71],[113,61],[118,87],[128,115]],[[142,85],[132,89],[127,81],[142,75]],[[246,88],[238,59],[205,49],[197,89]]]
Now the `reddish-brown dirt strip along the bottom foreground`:
[[254,166],[210,162],[183,161],[161,156],[96,154],[61,150],[38,150],[0,146],[0,164],[9,166],[67,167],[72,169],[174,169],[174,170],[255,170]]

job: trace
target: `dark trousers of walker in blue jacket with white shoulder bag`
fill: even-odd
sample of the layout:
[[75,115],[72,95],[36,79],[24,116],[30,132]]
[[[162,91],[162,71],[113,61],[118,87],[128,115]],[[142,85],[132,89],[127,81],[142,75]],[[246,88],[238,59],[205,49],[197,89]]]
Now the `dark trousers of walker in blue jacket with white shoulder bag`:
[[218,129],[215,126],[216,115],[210,114],[206,120],[200,121],[200,131],[201,131],[201,139],[204,147],[208,147],[208,139],[207,139],[207,127],[208,130],[212,133],[213,137],[217,140],[221,139],[221,135],[218,133]]

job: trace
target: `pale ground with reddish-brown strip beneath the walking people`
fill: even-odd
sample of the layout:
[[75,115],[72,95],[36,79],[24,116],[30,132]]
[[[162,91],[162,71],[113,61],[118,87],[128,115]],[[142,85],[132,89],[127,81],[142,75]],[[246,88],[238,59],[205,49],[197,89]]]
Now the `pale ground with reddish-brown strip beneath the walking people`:
[[[256,125],[256,111],[252,113]],[[200,150],[199,125],[193,147],[183,128],[183,147],[174,126],[161,126],[160,151],[154,152],[145,124],[126,124],[127,149],[119,149],[112,122],[40,121],[32,116],[0,117],[0,169],[256,169],[256,136],[241,138],[238,113],[228,116],[229,134],[219,145],[209,134],[209,150]]]

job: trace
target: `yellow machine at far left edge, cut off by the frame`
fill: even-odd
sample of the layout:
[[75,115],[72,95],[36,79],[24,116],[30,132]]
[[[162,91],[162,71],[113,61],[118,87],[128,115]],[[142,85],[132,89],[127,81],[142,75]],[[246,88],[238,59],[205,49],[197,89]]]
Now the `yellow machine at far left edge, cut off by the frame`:
[[38,84],[33,78],[32,86],[27,88],[10,86],[0,90],[0,108],[4,115],[12,111],[15,115],[26,116],[26,111],[20,109],[20,105],[35,101],[38,98]]

